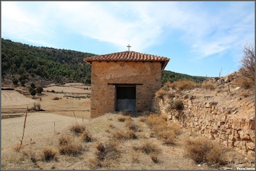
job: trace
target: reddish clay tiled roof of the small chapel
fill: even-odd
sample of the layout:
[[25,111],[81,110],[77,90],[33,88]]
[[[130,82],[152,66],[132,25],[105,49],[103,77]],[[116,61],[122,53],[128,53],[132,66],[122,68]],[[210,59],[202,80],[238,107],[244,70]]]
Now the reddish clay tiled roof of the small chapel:
[[116,52],[113,54],[106,54],[100,56],[86,57],[84,62],[92,64],[92,61],[151,61],[151,62],[162,62],[162,70],[166,66],[170,59],[162,56],[154,56],[149,54],[142,54],[139,52],[125,51]]

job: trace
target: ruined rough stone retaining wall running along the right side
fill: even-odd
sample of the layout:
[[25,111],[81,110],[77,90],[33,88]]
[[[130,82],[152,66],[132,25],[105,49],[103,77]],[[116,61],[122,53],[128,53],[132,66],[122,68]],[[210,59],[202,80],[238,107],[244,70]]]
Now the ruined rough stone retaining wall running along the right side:
[[184,103],[184,110],[179,114],[168,111],[168,99],[154,99],[156,112],[169,115],[190,131],[196,131],[205,137],[222,142],[227,147],[234,147],[247,156],[255,156],[255,116],[236,117],[237,108],[221,107],[217,102],[202,102],[195,96],[176,96]]

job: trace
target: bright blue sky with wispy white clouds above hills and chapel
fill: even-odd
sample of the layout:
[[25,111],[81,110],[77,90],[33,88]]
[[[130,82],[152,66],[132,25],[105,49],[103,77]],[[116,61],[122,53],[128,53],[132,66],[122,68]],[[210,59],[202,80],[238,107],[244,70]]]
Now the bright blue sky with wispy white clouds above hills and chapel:
[[170,58],[165,70],[218,77],[255,42],[254,1],[1,1],[1,36],[29,45]]

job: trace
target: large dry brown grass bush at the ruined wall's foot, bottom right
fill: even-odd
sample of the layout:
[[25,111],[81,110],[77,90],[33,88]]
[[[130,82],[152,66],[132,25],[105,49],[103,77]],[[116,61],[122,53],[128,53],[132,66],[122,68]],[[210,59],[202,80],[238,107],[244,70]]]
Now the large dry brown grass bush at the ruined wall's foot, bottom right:
[[196,163],[209,163],[223,165],[226,163],[225,151],[220,146],[203,137],[186,140],[186,156],[196,161]]

